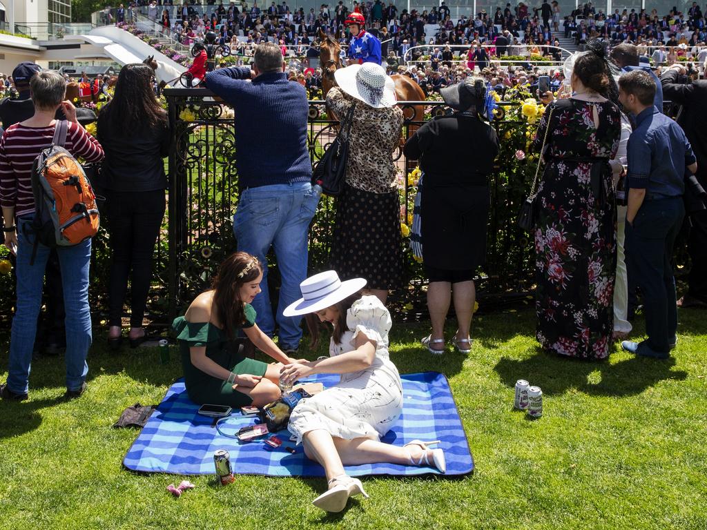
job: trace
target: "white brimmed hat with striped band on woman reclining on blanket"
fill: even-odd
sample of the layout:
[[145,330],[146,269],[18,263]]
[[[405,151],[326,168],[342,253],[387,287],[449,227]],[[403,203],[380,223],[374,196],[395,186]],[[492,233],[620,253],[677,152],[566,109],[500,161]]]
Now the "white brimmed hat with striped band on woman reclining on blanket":
[[288,305],[282,314],[285,317],[298,317],[327,309],[347,296],[358,293],[364,285],[366,280],[363,278],[341,281],[336,271],[315,274],[300,283],[302,298]]

